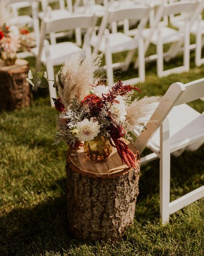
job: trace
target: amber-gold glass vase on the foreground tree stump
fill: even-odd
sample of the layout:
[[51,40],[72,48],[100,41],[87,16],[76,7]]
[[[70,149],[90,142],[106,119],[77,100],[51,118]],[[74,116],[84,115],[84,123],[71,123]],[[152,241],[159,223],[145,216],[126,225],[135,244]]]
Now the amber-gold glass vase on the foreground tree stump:
[[110,156],[112,149],[110,141],[102,136],[98,136],[92,141],[85,141],[84,143],[84,152],[93,161],[106,160]]

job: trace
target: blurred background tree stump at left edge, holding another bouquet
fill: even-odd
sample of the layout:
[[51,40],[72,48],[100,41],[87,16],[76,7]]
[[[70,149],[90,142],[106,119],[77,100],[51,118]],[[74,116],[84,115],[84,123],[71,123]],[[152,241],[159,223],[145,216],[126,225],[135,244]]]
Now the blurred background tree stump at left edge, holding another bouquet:
[[28,70],[28,61],[22,59],[12,66],[3,66],[0,61],[0,110],[21,109],[31,104]]

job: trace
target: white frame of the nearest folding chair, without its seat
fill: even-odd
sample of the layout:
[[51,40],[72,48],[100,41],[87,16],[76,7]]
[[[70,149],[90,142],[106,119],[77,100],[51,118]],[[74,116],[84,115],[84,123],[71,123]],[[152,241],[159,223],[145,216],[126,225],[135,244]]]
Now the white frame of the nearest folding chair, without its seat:
[[[204,78],[186,84],[173,83],[151,116],[151,120],[147,123],[143,132],[139,135],[137,131],[133,132],[137,137],[135,147],[140,153],[142,153],[146,146],[154,152],[142,157],[141,163],[148,163],[151,160],[160,158],[160,216],[163,224],[169,221],[170,214],[204,196],[204,186],[201,186],[170,202],[170,154],[186,147],[196,150],[204,143],[204,129],[193,134],[190,138],[185,138],[182,142],[179,141],[177,144],[170,144],[169,130],[171,129],[171,123],[169,123],[168,114],[174,106],[180,106],[181,104],[194,101],[201,96],[204,96]],[[200,114],[201,116],[203,116],[201,122],[204,124],[204,113],[203,115]],[[153,144],[151,144],[151,138],[153,138],[159,128],[160,149],[155,150]]]

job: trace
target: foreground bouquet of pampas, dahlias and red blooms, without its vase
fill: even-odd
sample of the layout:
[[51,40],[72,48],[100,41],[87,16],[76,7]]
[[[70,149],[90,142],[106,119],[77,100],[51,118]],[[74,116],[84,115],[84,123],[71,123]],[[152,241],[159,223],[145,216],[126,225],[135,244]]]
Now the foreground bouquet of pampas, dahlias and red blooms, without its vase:
[[[61,113],[56,117],[55,144],[65,140],[75,147],[81,141],[102,136],[116,147],[122,161],[134,168],[135,154],[121,138],[132,141],[130,132],[136,126],[144,127],[145,117],[154,111],[154,102],[160,98],[144,97],[132,101],[132,93],[141,92],[137,87],[124,86],[120,80],[114,85],[105,85],[101,77],[95,76],[100,61],[101,56],[81,59],[77,54],[67,59],[56,75],[55,85],[60,97],[53,101]],[[44,87],[46,72],[39,73],[38,78]],[[31,71],[28,81],[34,85]]]

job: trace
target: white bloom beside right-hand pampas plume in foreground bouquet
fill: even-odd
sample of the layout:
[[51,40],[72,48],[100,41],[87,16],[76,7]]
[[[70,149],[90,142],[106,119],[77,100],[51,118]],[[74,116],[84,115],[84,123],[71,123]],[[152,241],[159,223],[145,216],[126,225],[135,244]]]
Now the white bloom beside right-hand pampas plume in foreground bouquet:
[[122,96],[117,96],[116,100],[119,101],[119,103],[114,102],[111,106],[110,112],[116,116],[117,122],[124,122],[126,120],[126,104],[123,100]]

